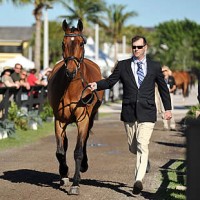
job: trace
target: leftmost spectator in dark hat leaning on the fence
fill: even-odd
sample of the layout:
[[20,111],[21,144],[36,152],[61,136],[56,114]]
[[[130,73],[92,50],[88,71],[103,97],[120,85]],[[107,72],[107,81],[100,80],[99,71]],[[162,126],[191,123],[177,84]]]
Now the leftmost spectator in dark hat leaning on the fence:
[[19,82],[14,82],[11,73],[13,70],[11,68],[5,67],[4,71],[1,73],[1,81],[5,87],[16,87],[17,89],[20,87]]

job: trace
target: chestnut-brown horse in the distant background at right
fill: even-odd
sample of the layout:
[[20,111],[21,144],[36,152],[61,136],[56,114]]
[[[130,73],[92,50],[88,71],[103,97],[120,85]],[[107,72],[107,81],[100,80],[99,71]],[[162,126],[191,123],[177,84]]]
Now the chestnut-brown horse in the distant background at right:
[[175,79],[176,87],[182,90],[183,97],[189,95],[191,76],[186,71],[173,71],[172,76]]

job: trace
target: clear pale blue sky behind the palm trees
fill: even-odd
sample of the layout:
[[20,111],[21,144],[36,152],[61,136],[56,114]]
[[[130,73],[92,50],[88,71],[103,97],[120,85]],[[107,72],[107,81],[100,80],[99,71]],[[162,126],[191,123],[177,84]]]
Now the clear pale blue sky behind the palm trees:
[[[126,25],[154,27],[162,22],[186,18],[200,24],[200,0],[106,0],[106,2],[108,5],[114,3],[125,5],[125,12],[138,13],[138,16],[129,19]],[[35,22],[32,15],[33,8],[33,5],[16,7],[11,3],[0,4],[0,27],[32,26]],[[66,10],[60,4],[55,4],[53,9],[48,10],[49,20],[58,20],[57,17],[60,15],[66,15]]]

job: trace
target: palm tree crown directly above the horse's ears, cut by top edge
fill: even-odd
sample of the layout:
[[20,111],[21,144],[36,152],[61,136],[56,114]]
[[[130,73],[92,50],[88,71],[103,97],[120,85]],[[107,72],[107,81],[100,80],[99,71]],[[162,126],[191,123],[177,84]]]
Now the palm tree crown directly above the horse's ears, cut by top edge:
[[65,0],[61,0],[61,2],[69,15],[59,17],[68,19],[69,23],[81,19],[84,27],[88,27],[89,22],[99,23],[102,12],[106,10],[103,0],[72,0],[71,4]]

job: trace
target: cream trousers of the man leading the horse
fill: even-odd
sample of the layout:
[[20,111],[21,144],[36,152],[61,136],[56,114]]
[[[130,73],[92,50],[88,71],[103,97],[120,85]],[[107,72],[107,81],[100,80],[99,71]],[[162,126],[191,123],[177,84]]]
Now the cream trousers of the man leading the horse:
[[137,162],[135,168],[135,180],[144,178],[146,174],[148,156],[149,156],[149,142],[153,132],[155,123],[143,122],[143,123],[127,123],[124,122],[129,150],[137,154]]

